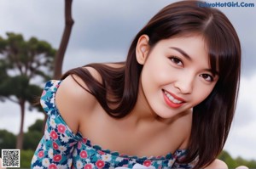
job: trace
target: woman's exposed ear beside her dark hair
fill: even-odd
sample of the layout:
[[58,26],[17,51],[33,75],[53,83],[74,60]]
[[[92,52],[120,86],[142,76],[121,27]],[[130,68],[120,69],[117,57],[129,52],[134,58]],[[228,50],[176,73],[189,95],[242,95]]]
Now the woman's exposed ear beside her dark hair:
[[147,35],[142,35],[137,41],[136,47],[136,58],[140,65],[144,65],[149,52],[148,45],[149,37]]

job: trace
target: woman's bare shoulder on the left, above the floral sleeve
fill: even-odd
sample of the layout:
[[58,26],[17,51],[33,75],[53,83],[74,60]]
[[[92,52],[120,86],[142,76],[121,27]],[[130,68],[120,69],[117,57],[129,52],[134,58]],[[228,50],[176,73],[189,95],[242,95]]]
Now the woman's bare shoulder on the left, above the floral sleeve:
[[[93,68],[87,70],[96,79],[101,79]],[[97,104],[96,98],[86,90],[89,89],[84,81],[79,76],[72,75],[61,82],[55,96],[55,103],[62,118],[75,133],[79,130],[81,116],[89,115]]]

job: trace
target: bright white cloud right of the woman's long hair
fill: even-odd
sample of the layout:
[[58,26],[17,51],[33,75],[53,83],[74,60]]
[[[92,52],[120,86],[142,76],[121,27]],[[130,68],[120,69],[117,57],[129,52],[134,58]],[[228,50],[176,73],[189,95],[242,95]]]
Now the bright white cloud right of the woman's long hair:
[[234,157],[255,159],[256,147],[256,74],[241,78],[240,95],[230,136],[224,149]]

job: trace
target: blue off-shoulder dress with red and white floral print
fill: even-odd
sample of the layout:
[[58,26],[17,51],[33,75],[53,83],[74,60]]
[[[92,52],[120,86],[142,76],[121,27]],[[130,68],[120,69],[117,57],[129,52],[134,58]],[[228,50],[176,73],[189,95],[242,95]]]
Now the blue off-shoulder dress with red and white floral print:
[[157,157],[121,155],[92,144],[80,133],[74,134],[61,118],[55,105],[55,93],[61,81],[49,81],[44,87],[41,104],[47,113],[44,137],[32,157],[32,168],[191,168],[193,164],[178,164],[185,149]]

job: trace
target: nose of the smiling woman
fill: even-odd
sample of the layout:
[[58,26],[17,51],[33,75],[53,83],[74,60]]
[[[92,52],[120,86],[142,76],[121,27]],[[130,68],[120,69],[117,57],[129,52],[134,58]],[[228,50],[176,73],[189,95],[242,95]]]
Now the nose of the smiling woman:
[[178,78],[176,82],[174,82],[174,87],[179,90],[180,93],[190,94],[193,90],[194,78],[192,76],[183,76]]

